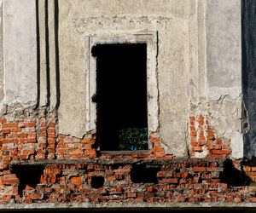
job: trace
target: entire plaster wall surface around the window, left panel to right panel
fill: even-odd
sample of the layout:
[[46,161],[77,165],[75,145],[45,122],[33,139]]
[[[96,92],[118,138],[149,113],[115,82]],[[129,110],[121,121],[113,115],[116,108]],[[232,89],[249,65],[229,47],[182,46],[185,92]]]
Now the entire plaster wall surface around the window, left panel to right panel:
[[161,146],[187,156],[189,116],[203,115],[241,158],[240,21],[239,0],[3,1],[2,105],[58,109],[59,133],[81,139],[90,40],[154,32]]

